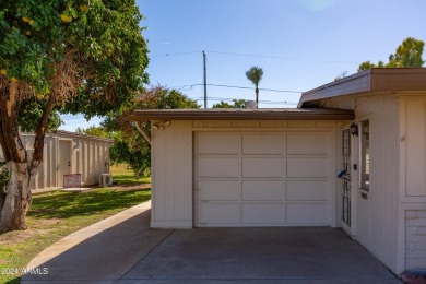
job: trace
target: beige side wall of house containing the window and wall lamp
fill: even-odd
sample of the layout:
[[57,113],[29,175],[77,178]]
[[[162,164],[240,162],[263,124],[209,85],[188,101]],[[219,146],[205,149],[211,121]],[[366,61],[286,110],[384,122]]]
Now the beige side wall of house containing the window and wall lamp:
[[[355,238],[394,272],[399,250],[399,98],[393,94],[331,98],[324,107],[354,109],[355,122],[370,126],[370,189],[356,194]],[[359,153],[354,164],[359,165]],[[358,167],[359,168],[359,167]],[[354,178],[358,178],[358,173]],[[360,185],[359,180],[355,180]]]

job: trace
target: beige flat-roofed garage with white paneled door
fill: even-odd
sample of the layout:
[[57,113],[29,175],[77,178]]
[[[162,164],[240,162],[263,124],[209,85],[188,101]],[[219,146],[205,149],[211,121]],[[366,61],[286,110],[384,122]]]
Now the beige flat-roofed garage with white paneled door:
[[334,109],[163,109],[152,120],[152,227],[336,226]]

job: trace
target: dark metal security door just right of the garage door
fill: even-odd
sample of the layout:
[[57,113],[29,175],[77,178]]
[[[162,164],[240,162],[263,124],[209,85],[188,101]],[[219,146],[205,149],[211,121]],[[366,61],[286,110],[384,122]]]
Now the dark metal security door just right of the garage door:
[[352,229],[352,161],[351,161],[351,131],[350,129],[343,129],[342,131],[342,168],[341,173],[341,189],[342,189],[342,211],[341,211],[341,225],[342,228],[353,235]]

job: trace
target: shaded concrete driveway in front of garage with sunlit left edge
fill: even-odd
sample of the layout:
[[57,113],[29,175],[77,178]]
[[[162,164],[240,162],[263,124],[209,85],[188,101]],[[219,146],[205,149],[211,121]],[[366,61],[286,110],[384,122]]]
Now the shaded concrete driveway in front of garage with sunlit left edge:
[[22,283],[401,283],[335,228],[170,230],[149,221],[143,203],[74,233],[32,260],[39,273]]

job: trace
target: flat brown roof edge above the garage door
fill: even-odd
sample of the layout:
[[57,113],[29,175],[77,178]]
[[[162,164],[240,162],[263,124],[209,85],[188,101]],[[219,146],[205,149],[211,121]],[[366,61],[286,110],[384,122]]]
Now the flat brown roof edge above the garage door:
[[352,120],[354,117],[352,110],[326,108],[196,108],[135,110],[129,120]]

